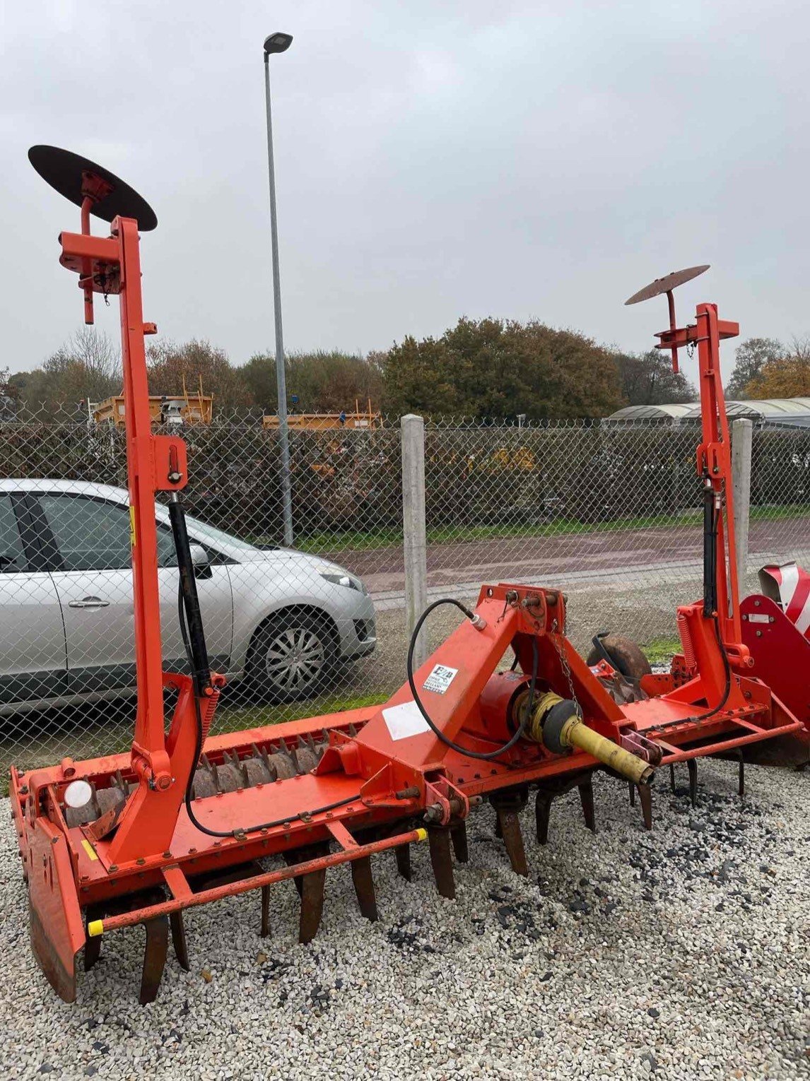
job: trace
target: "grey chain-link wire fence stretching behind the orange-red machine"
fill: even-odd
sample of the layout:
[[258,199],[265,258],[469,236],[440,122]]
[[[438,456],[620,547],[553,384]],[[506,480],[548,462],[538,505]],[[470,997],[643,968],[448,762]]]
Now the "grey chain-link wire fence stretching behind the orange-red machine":
[[[291,430],[294,550],[279,546],[277,431],[235,415],[182,433],[208,646],[229,677],[216,728],[387,697],[407,650],[399,422]],[[664,659],[676,604],[701,592],[696,440],[695,427],[664,424],[427,425],[428,595],[561,586],[577,648],[621,629]],[[810,556],[810,432],[757,430],[753,461],[748,589],[769,559]],[[135,702],[123,430],[64,414],[4,421],[0,478],[0,765],[124,749]],[[158,562],[163,656],[183,668],[162,507]],[[437,613],[431,641],[450,626]]]

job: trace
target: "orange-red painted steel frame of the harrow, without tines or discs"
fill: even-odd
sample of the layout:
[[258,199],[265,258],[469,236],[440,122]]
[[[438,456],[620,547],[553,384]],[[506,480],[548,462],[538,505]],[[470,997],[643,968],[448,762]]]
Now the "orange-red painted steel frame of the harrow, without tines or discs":
[[[121,305],[138,694],[129,756],[85,762],[66,759],[28,775],[12,770],[12,809],[28,878],[34,951],[54,988],[72,1000],[76,956],[87,940],[82,916],[91,906],[160,886],[168,900],[135,904],[105,919],[103,930],[152,921],[421,840],[425,831],[414,830],[410,823],[428,808],[438,826],[449,826],[463,822],[477,798],[550,784],[599,763],[580,750],[555,755],[529,740],[484,762],[450,749],[431,731],[395,738],[386,711],[412,699],[404,683],[384,707],[208,737],[204,752],[214,762],[222,761],[225,751],[244,755],[253,744],[278,744],[303,734],[326,736],[329,747],[310,774],[197,799],[194,809],[201,825],[233,832],[214,837],[198,829],[184,806],[196,765],[192,686],[188,677],[162,671],[155,521],[155,493],[185,484],[186,456],[182,440],[150,430],[144,335],[155,328],[143,321],[137,224],[119,217],[109,238],[92,237],[84,229],[63,233],[61,243],[61,262],[79,270],[80,284],[88,288],[88,281],[103,281],[105,292],[118,292]],[[698,468],[718,505],[725,497],[727,511],[730,458],[719,342],[736,333],[735,323],[718,320],[714,305],[702,304],[695,325],[660,335],[666,348],[698,347],[703,405]],[[752,672],[751,655],[741,640],[730,513],[725,532],[722,524],[719,530],[723,559],[718,561],[717,612],[705,613],[702,602],[678,610],[685,652],[670,673],[646,679],[643,685],[653,697],[616,704],[599,671],[588,668],[565,636],[561,592],[489,585],[481,587],[475,609],[478,625],[465,620],[415,673],[423,688],[435,665],[455,670],[444,693],[422,692],[437,728],[470,750],[491,751],[508,739],[505,709],[493,715],[486,703],[503,679],[496,668],[512,646],[524,681],[536,656],[539,686],[573,697],[585,723],[616,744],[629,746],[634,735],[647,737],[661,749],[664,762],[797,732],[800,722]],[[167,682],[180,692],[168,735],[162,698]],[[203,704],[205,731],[221,682],[215,681],[210,700]],[[120,817],[106,830],[98,830],[97,824],[69,828],[63,813],[66,786],[85,778],[104,787],[117,771],[136,784]],[[261,823],[266,825],[252,828]],[[370,827],[388,827],[388,836],[358,841],[354,835]],[[311,852],[314,844],[327,842],[336,844],[337,852],[304,855],[284,870],[245,873],[203,892],[189,884],[203,872],[266,855]]]

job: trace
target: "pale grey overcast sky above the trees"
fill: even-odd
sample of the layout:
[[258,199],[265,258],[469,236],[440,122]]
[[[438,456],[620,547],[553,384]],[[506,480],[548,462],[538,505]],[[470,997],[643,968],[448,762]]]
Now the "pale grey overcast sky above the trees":
[[[712,269],[679,291],[683,317],[716,301],[741,339],[810,332],[806,3],[0,10],[0,366],[40,364],[81,324],[56,244],[78,210],[28,164],[35,143],[155,208],[145,317],[164,338],[209,338],[235,363],[270,346],[276,29],[295,39],[271,58],[288,350],[385,349],[462,315],[643,349],[665,302],[623,302],[696,263]],[[115,299],[98,323],[118,333]]]

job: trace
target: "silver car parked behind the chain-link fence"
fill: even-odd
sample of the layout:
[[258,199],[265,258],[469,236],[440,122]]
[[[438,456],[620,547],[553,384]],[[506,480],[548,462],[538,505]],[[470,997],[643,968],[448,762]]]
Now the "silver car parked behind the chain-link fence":
[[[185,667],[177,570],[157,508],[167,668]],[[238,528],[239,523],[235,522]],[[376,644],[374,605],[343,568],[261,549],[188,518],[212,667],[273,700],[306,698]],[[134,685],[129,495],[87,481],[0,480],[0,716]]]

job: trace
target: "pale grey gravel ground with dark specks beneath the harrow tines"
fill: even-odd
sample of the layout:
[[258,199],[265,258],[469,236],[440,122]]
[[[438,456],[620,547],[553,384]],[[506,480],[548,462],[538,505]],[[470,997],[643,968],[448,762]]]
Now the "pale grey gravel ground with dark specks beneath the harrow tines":
[[700,801],[659,777],[646,833],[624,786],[597,778],[598,833],[579,800],[546,850],[523,815],[517,878],[488,808],[470,820],[457,898],[377,857],[381,919],[330,872],[323,924],[296,943],[292,883],[187,916],[191,972],[170,956],[136,1002],[142,934],[105,939],[74,1005],[28,951],[26,896],[0,809],[3,1078],[810,1078],[810,774],[701,763]]

